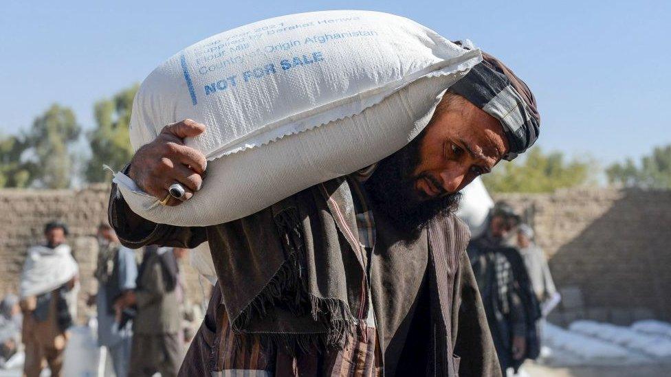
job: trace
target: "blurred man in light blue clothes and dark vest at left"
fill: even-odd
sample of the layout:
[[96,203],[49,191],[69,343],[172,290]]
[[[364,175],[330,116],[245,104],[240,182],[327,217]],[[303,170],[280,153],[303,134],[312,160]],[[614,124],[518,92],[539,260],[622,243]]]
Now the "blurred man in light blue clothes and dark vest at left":
[[114,303],[135,289],[135,251],[122,246],[114,230],[104,223],[98,226],[98,246],[98,293],[89,303],[95,302],[98,310],[98,345],[109,350],[116,376],[125,377],[131,358],[132,321],[126,320],[127,312],[117,313]]

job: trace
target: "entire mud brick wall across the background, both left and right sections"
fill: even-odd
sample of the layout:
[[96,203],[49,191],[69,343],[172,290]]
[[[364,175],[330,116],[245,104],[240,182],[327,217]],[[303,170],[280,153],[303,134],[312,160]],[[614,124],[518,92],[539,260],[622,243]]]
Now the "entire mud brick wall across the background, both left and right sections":
[[[16,292],[25,251],[43,242],[45,222],[69,224],[69,243],[80,264],[80,319],[96,289],[92,273],[98,223],[106,217],[107,187],[86,190],[0,190],[0,295]],[[615,323],[655,317],[671,320],[671,192],[564,190],[505,194],[536,229],[564,301],[553,321],[593,318]],[[197,274],[186,271],[187,293],[203,295]],[[203,280],[203,286],[209,287]]]

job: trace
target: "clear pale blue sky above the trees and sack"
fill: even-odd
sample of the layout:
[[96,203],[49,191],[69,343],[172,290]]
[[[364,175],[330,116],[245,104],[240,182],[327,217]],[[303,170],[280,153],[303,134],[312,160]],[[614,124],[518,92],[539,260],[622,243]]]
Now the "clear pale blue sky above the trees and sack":
[[601,163],[671,143],[671,1],[3,1],[0,133],[52,102],[94,126],[96,100],[180,49],[252,21],[314,10],[390,12],[470,38],[536,94],[540,146]]

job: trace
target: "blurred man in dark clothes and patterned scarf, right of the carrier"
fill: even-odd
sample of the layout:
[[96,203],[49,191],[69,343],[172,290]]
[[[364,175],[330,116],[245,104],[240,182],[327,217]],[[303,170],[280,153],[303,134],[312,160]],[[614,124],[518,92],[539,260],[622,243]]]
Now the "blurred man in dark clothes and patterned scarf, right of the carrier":
[[538,302],[530,295],[529,278],[519,252],[506,244],[519,220],[509,205],[496,203],[487,230],[468,244],[468,256],[504,376],[509,367],[517,369],[525,358],[538,356],[534,327]]

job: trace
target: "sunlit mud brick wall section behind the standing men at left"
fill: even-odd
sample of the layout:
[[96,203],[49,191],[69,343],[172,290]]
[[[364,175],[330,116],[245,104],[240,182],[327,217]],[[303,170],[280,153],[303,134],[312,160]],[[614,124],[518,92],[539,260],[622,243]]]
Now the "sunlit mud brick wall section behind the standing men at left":
[[[68,243],[80,269],[79,321],[94,315],[85,306],[87,293],[95,293],[98,224],[107,218],[107,185],[92,185],[85,190],[0,190],[0,297],[17,293],[25,253],[31,245],[44,242],[43,229],[50,220],[63,220],[70,231]],[[197,273],[182,263],[186,294],[193,303],[203,299]],[[206,295],[208,283],[203,279]]]

